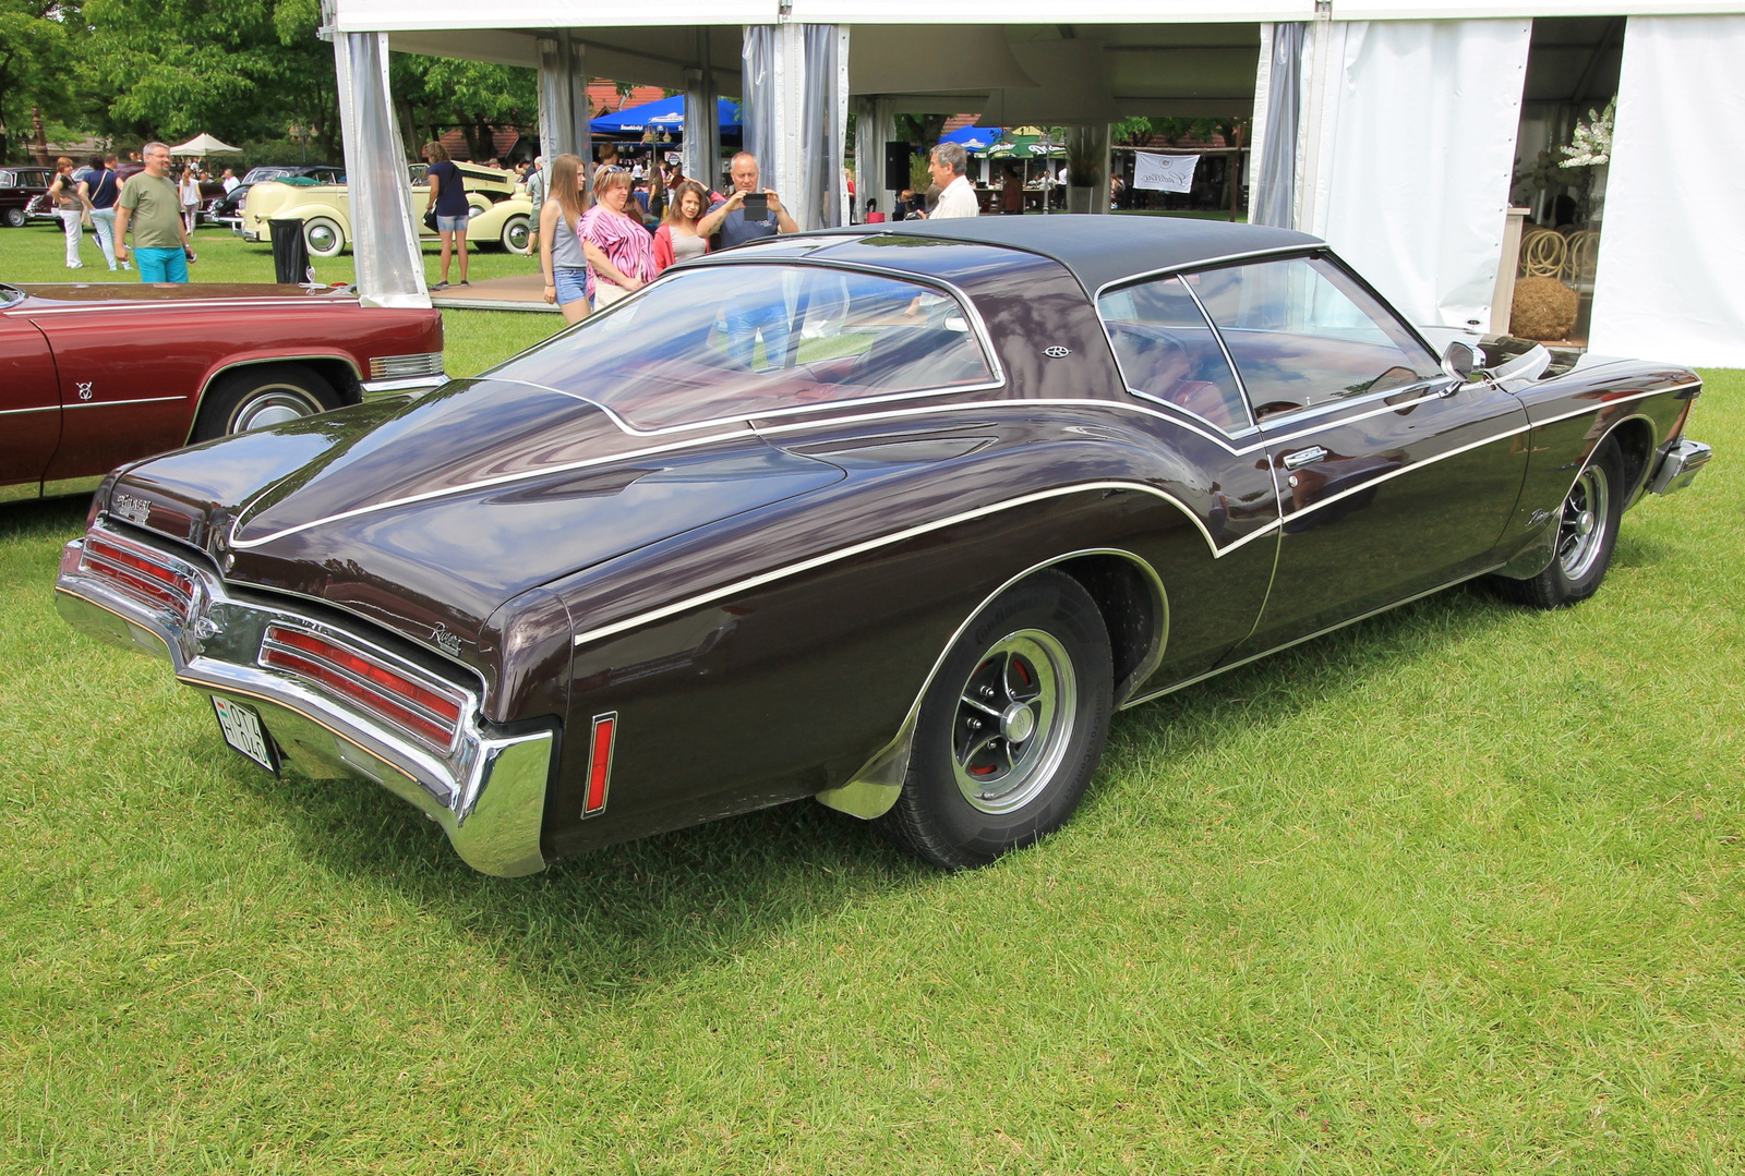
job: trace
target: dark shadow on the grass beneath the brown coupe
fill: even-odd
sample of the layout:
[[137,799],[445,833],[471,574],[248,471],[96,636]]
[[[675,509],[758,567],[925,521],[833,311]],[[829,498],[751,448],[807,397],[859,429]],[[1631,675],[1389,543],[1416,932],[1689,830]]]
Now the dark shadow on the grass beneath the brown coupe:
[[[1232,724],[1284,726],[1331,689],[1436,656],[1513,616],[1520,612],[1482,590],[1431,597],[1127,712],[1112,757],[1145,754],[1145,733],[1160,728],[1171,728],[1171,754],[1192,756]],[[208,756],[213,747],[185,752]],[[241,764],[234,778],[277,806],[298,850],[346,885],[403,895],[422,918],[518,968],[555,1000],[668,982],[780,942],[787,928],[941,878],[866,824],[801,801],[607,846],[534,878],[497,879],[464,865],[435,824],[379,789],[279,783]],[[1096,789],[1092,810],[1094,799]]]

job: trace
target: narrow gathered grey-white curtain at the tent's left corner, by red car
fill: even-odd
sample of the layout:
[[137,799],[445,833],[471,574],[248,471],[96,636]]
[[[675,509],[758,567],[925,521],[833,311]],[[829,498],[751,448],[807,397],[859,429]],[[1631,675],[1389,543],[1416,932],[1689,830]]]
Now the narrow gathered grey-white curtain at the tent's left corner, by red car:
[[365,305],[428,307],[407,148],[387,92],[387,33],[335,33],[333,65],[358,295]]

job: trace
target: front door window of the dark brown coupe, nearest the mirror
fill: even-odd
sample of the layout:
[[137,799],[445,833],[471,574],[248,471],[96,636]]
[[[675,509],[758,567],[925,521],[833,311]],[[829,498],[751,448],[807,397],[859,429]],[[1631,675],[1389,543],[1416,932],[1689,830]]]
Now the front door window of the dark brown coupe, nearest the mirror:
[[1218,325],[1256,419],[1440,373],[1429,349],[1331,262],[1232,265],[1187,283]]

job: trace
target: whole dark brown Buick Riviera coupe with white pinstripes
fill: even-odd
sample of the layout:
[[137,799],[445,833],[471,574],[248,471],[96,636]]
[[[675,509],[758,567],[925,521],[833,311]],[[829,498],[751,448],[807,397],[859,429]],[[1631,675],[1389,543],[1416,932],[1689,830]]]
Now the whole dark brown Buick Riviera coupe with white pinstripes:
[[1438,358],[1277,229],[778,237],[115,475],[58,600],[480,871],[797,797],[968,867],[1068,818],[1117,707],[1478,576],[1593,593],[1708,455],[1700,382],[1553,359]]

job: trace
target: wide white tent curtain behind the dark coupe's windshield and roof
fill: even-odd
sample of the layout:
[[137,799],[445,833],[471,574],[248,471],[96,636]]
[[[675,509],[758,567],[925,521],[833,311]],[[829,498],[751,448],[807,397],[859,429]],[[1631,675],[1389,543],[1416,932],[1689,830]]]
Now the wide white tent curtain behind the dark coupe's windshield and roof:
[[1297,227],[1419,325],[1490,330],[1530,40],[1529,19],[1312,26]]

